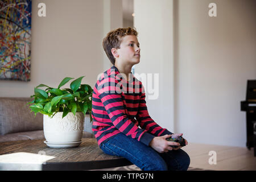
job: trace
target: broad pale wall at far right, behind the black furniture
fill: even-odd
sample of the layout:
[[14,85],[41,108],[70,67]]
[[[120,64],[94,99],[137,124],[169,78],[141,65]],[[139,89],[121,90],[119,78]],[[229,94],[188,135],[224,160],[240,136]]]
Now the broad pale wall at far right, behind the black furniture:
[[[217,5],[217,17],[208,5]],[[246,81],[256,79],[256,2],[175,1],[175,130],[191,142],[246,145]]]

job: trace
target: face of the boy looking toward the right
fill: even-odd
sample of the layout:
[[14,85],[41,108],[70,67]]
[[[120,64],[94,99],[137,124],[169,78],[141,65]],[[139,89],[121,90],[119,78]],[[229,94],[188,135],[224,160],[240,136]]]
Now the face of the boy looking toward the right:
[[119,49],[114,49],[112,52],[115,61],[121,61],[122,64],[138,64],[141,55],[141,49],[139,48],[139,42],[135,35],[126,35],[122,37],[122,42]]

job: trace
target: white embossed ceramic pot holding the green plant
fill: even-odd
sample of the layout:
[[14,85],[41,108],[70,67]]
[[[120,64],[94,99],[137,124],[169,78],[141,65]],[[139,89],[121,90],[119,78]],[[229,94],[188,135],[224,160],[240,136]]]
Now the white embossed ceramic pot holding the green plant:
[[68,113],[62,118],[63,112],[56,113],[52,118],[43,116],[44,137],[48,143],[80,142],[84,130],[84,114]]

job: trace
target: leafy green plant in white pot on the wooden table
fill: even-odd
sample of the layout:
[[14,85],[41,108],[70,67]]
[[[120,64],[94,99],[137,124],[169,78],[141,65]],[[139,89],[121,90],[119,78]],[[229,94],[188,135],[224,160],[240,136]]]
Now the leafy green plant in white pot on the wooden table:
[[[60,89],[71,77],[65,77],[57,86],[40,84],[34,88],[31,112],[43,114],[44,143],[49,147],[62,148],[79,146],[84,130],[84,118],[92,122],[92,88],[81,84],[84,76],[72,81],[70,88]],[[46,87],[45,90],[39,89]]]

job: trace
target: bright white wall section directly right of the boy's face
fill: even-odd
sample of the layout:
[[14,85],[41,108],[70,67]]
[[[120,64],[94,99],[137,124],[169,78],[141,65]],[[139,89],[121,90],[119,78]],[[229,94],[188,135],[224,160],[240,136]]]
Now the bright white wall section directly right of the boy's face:
[[[141,47],[141,62],[135,65],[135,73],[139,75],[152,74],[147,82],[142,81],[146,89],[146,102],[148,113],[160,126],[174,131],[174,60],[173,60],[173,21],[172,1],[170,0],[135,0],[134,1],[134,27],[138,31],[138,41]],[[150,100],[154,75],[159,74],[159,88],[154,90],[156,100]],[[138,77],[137,77],[138,78]]]

